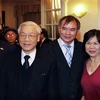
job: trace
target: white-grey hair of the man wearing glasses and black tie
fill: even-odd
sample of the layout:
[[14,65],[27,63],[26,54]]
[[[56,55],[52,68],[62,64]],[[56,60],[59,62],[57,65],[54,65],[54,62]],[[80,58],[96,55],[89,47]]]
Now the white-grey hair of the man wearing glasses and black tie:
[[38,34],[41,33],[41,31],[42,31],[41,28],[33,21],[26,21],[26,22],[21,23],[18,27],[18,33],[20,32],[20,30],[23,26],[28,26],[28,25],[35,27]]

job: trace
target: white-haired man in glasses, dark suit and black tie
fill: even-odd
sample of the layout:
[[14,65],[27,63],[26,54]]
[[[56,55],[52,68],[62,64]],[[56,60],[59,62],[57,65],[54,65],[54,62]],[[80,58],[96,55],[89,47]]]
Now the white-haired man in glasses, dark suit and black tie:
[[19,25],[18,33],[21,48],[6,55],[0,65],[0,100],[56,100],[56,62],[36,49],[40,27],[27,21]]

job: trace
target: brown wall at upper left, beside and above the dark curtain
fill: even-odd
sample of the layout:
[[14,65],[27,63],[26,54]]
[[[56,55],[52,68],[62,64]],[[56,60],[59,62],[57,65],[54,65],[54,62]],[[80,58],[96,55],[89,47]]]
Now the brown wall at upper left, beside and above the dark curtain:
[[0,12],[5,11],[5,26],[16,29],[15,5],[28,5],[39,3],[40,0],[2,0],[2,10],[0,10]]

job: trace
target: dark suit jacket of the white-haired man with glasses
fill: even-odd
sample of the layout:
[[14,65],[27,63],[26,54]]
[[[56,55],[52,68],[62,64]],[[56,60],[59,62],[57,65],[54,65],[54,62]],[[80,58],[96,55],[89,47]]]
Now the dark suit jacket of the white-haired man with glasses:
[[[43,53],[42,53],[43,54]],[[21,94],[21,50],[7,55],[0,72],[0,100],[56,100],[57,74],[53,57],[37,54],[28,90]]]

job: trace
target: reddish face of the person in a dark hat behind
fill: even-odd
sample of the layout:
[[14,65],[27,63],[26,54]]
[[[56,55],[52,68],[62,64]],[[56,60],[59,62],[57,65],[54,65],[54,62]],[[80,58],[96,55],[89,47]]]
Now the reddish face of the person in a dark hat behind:
[[5,39],[6,39],[8,42],[10,42],[11,44],[13,44],[13,43],[15,42],[16,38],[17,38],[17,35],[16,35],[16,33],[13,32],[13,31],[8,31],[8,32],[6,33],[6,35],[5,35]]

